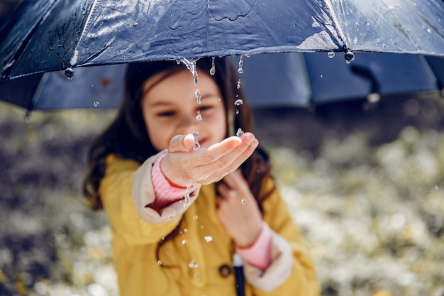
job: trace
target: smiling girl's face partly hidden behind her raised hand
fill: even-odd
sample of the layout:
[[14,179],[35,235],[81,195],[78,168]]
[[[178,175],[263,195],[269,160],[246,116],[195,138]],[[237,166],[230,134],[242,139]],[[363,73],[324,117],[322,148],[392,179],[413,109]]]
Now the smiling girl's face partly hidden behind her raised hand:
[[[142,114],[152,146],[163,150],[173,136],[193,131],[199,132],[201,147],[222,141],[226,136],[226,112],[216,82],[199,72],[199,82],[194,85],[193,75],[186,69],[157,82],[161,75],[143,84]],[[201,93],[201,104],[197,104],[196,89]],[[198,112],[201,121],[196,120]]]

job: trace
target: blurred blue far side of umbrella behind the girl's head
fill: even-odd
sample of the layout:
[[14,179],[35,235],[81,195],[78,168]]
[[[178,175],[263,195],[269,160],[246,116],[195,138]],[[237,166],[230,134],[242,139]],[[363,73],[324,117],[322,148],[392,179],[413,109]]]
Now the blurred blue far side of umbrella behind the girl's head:
[[[237,65],[239,57],[232,61]],[[347,64],[326,53],[277,53],[243,61],[240,85],[253,107],[307,107],[367,97],[375,101],[444,87],[443,57],[360,53]],[[72,80],[56,71],[0,82],[0,99],[28,110],[117,108],[126,65],[80,67]]]

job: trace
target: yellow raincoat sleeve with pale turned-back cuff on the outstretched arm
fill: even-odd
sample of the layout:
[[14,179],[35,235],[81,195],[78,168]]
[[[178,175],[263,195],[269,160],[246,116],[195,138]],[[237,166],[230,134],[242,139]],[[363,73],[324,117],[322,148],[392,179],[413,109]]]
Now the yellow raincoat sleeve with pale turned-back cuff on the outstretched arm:
[[157,243],[179,223],[182,214],[194,202],[199,189],[190,194],[190,202],[175,202],[156,212],[149,207],[155,200],[151,169],[158,153],[142,165],[134,160],[109,155],[100,194],[114,232],[128,244]]

